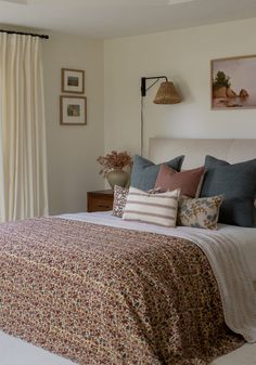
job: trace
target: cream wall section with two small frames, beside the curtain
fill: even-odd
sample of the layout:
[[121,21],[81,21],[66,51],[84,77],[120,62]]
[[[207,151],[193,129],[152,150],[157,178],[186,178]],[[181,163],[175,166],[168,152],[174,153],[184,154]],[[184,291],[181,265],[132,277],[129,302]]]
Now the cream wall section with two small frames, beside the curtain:
[[[87,191],[102,188],[103,41],[50,34],[43,41],[50,213],[85,211]],[[86,70],[88,125],[60,126],[61,68]]]

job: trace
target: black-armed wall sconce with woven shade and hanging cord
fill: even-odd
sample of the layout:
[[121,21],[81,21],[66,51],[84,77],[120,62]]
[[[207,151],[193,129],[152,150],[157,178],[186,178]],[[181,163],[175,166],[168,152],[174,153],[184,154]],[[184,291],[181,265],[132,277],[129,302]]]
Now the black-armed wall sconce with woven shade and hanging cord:
[[[166,76],[153,76],[141,78],[141,156],[143,154],[143,141],[144,141],[143,97],[146,95],[146,91],[150,90],[161,79],[165,79],[165,81],[161,83],[158,91],[155,95],[154,103],[177,104],[181,102],[181,97],[176,91],[174,83],[168,81]],[[146,80],[154,80],[154,82],[146,88]]]

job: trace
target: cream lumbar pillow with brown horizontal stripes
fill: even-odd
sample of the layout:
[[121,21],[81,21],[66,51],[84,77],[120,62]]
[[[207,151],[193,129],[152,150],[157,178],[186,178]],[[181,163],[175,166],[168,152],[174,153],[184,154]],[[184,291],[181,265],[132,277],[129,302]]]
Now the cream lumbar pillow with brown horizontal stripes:
[[180,190],[161,194],[130,187],[123,219],[174,227]]

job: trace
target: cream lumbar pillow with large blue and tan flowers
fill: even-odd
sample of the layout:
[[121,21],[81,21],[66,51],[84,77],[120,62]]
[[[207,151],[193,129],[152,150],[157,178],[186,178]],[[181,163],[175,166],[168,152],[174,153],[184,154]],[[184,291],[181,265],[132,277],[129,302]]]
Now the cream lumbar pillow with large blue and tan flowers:
[[222,201],[223,195],[199,199],[182,196],[179,200],[178,225],[217,230]]

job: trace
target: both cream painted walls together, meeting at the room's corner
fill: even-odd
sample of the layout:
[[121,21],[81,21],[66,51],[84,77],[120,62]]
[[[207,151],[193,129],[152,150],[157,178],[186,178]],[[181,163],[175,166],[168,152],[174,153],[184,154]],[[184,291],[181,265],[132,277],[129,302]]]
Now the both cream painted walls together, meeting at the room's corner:
[[[145,154],[153,135],[256,138],[256,109],[209,108],[209,60],[256,54],[255,32],[256,18],[104,43],[50,34],[43,41],[50,212],[86,210],[87,191],[104,186],[95,162],[104,151],[140,152],[142,76],[167,75],[184,100],[154,105],[157,88],[150,90],[144,99]],[[62,67],[86,70],[86,127],[60,126]]]

